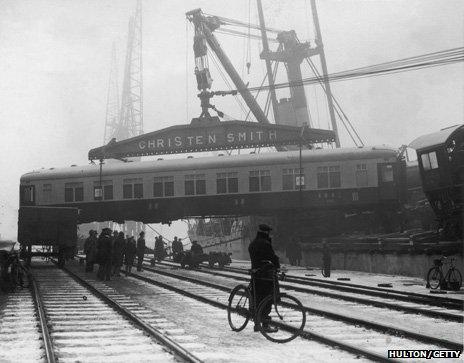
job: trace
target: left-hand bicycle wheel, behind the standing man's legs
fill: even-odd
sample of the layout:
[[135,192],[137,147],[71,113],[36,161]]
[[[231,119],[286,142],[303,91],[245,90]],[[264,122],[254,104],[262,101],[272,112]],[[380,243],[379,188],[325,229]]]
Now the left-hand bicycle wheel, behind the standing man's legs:
[[229,296],[227,319],[233,331],[243,330],[250,320],[250,290],[244,285],[236,286]]

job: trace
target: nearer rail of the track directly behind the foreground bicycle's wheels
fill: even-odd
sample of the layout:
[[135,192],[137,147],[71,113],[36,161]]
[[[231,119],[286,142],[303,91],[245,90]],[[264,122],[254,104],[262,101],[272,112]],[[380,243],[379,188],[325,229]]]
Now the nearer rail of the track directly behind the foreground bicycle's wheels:
[[[148,270],[147,268],[145,268],[145,269]],[[208,299],[208,298],[206,298],[204,296],[201,296],[201,295],[196,295],[196,294],[191,293],[189,291],[182,290],[181,288],[178,288],[178,287],[175,287],[175,286],[172,286],[172,285],[169,285],[169,284],[165,284],[163,282],[156,281],[156,280],[150,279],[150,278],[145,277],[145,276],[140,276],[140,275],[135,274],[133,272],[128,273],[128,276],[131,276],[133,278],[139,279],[139,280],[144,281],[144,282],[148,282],[149,284],[152,284],[152,285],[162,287],[162,288],[164,288],[166,290],[174,291],[174,292],[176,292],[178,294],[187,296],[189,298],[201,301],[203,303],[212,305],[214,307],[217,307],[217,308],[220,308],[220,309],[223,309],[223,310],[227,310],[227,308],[228,308],[228,306],[226,304],[224,304],[224,303]],[[212,284],[212,285],[214,285],[214,284]],[[220,285],[217,285],[217,286],[220,286]],[[221,290],[230,292],[231,289],[228,288],[228,287],[227,288],[221,287]],[[305,308],[304,308],[304,310],[306,312]],[[291,330],[292,329],[292,327],[284,326],[284,324],[282,324],[281,326],[285,327],[286,330]],[[376,362],[397,362],[396,360],[385,358],[384,356],[381,356],[379,354],[360,349],[360,348],[358,348],[358,347],[356,347],[354,345],[346,344],[346,343],[343,343],[343,342],[340,342],[340,341],[337,341],[337,340],[334,340],[334,339],[328,338],[326,336],[323,336],[323,335],[320,335],[320,334],[317,334],[317,333],[313,333],[313,332],[310,332],[310,331],[307,331],[307,330],[303,330],[303,332],[300,333],[300,336],[303,339],[316,340],[316,341],[319,341],[319,342],[321,342],[323,344],[330,345],[332,347],[334,347],[334,346],[335,347],[340,347],[340,348],[342,348],[343,350],[345,350],[347,352],[357,354],[357,355],[362,355],[362,356],[364,356],[364,357],[366,357],[368,359],[371,359],[373,361],[376,361]]]

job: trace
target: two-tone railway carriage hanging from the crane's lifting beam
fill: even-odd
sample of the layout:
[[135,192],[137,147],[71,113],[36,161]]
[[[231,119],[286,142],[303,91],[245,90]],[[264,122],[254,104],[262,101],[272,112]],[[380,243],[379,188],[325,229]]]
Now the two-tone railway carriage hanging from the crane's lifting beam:
[[387,147],[40,169],[24,174],[20,186],[21,205],[77,207],[80,223],[384,212],[398,207],[404,190],[404,162]]

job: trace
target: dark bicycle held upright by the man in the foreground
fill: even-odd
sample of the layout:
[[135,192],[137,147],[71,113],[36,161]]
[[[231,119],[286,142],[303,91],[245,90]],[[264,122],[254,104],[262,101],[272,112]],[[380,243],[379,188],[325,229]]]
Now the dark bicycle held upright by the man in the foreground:
[[[230,293],[227,319],[233,331],[242,331],[252,320],[266,339],[275,343],[287,343],[301,335],[306,324],[306,313],[298,299],[279,291],[278,278],[279,276],[284,278],[285,274],[279,275],[273,265],[271,268],[273,293],[265,297],[256,307],[252,292],[256,291],[257,275],[264,270],[263,268],[249,270],[251,274],[249,285],[237,285]],[[266,312],[269,310],[269,305],[271,305],[270,320]]]

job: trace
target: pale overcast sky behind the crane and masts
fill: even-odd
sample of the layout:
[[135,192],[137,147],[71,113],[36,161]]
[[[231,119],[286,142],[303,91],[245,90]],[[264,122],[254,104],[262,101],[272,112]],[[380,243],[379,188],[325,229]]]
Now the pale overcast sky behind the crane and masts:
[[[267,25],[314,32],[309,0],[263,0]],[[185,12],[257,23],[252,0],[143,1],[145,132],[187,124],[200,114],[193,76],[193,30]],[[319,0],[329,72],[463,46],[461,0]],[[0,0],[0,234],[16,238],[19,178],[40,167],[87,163],[103,140],[112,43],[122,77],[127,23],[135,0]],[[245,29],[246,31],[246,29]],[[244,72],[246,39],[218,35]],[[250,42],[250,75],[264,75],[260,44]],[[211,63],[214,90],[227,86]],[[304,76],[311,76],[303,68]],[[283,80],[284,74],[280,74]],[[398,147],[463,122],[463,64],[333,84],[333,92],[366,144]],[[307,87],[315,126],[327,125],[322,94]],[[285,97],[286,91],[279,92]],[[243,118],[233,98],[218,98],[227,115]],[[352,146],[346,134],[342,143]]]

